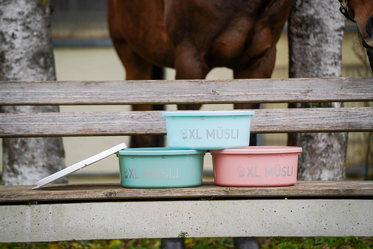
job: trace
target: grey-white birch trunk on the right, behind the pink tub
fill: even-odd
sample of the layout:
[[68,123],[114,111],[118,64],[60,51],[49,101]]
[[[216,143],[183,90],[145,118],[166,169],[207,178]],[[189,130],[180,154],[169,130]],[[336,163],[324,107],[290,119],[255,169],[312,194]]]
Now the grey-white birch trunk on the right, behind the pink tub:
[[[341,77],[345,17],[335,0],[294,0],[288,20],[289,76]],[[341,107],[342,103],[298,103],[290,108]],[[317,118],[317,117],[315,117]],[[299,180],[346,177],[347,133],[292,133],[290,146],[303,147]]]

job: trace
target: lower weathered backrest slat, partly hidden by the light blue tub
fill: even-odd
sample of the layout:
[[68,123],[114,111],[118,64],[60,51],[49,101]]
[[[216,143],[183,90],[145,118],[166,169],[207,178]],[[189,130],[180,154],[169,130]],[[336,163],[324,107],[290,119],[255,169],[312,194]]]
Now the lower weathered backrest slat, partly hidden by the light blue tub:
[[[373,108],[259,109],[252,133],[372,131]],[[0,137],[166,134],[161,111],[0,113]]]

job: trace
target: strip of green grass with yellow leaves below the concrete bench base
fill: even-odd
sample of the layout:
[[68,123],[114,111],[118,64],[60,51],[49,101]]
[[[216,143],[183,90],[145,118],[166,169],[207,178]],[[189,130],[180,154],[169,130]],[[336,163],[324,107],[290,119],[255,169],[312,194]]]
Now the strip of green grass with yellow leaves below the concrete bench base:
[[[373,249],[373,237],[259,237],[262,249]],[[160,239],[0,243],[0,249],[157,249]],[[185,238],[187,249],[233,249],[233,238]]]

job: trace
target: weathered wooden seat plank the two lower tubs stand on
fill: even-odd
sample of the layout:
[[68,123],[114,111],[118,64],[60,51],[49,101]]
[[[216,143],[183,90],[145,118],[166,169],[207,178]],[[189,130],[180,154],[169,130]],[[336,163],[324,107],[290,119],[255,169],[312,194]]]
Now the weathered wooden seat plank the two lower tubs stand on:
[[373,196],[373,181],[298,181],[288,187],[221,187],[204,182],[199,187],[179,189],[128,189],[119,183],[49,184],[0,186],[0,202],[189,198],[189,197],[276,197],[276,196]]

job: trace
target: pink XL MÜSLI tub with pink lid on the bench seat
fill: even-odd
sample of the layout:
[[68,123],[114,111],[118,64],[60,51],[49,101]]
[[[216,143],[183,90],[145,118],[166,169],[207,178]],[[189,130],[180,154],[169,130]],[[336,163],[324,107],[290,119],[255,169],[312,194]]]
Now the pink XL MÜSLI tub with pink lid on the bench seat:
[[301,147],[248,146],[209,150],[215,184],[227,187],[290,186],[297,182]]

